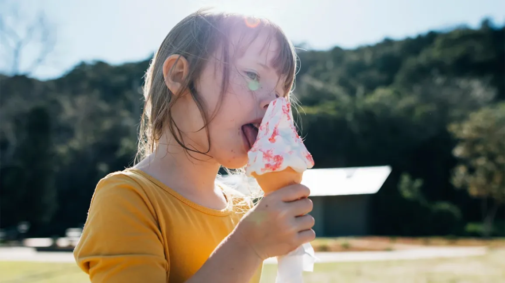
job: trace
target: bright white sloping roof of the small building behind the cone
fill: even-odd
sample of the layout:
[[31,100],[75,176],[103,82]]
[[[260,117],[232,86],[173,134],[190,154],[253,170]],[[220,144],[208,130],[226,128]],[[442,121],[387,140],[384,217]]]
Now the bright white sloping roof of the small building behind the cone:
[[374,194],[390,173],[390,166],[309,169],[301,183],[311,196]]

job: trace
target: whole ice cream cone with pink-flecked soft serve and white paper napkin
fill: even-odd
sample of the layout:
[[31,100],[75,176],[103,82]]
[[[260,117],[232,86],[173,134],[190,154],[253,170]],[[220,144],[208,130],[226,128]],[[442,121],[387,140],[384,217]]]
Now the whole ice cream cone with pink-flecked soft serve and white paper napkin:
[[[294,127],[291,105],[286,98],[270,103],[255,144],[247,153],[247,176],[253,176],[265,194],[301,182],[305,170],[314,166]],[[315,254],[310,243],[277,257],[276,283],[301,283],[302,271],[314,270]]]

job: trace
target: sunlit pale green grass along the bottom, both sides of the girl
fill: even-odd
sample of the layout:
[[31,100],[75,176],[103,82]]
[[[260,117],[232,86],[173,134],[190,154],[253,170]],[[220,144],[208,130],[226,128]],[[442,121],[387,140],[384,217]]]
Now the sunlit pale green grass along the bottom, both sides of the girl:
[[[485,256],[402,260],[384,262],[319,263],[305,282],[505,282],[505,249],[493,249]],[[275,281],[276,265],[266,264],[262,282]],[[89,282],[72,263],[2,262],[2,283]]]

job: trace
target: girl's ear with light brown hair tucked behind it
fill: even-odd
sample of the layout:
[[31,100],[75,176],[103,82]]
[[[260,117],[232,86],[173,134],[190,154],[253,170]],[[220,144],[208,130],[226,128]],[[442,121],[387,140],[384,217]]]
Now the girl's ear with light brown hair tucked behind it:
[[163,78],[165,84],[173,94],[184,92],[181,88],[189,73],[189,64],[182,55],[170,55],[163,63]]

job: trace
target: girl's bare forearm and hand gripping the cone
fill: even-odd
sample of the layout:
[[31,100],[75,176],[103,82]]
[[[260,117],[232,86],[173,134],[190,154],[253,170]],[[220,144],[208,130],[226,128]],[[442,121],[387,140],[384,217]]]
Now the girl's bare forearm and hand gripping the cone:
[[309,194],[292,185],[265,196],[186,283],[249,282],[264,259],[314,240]]

